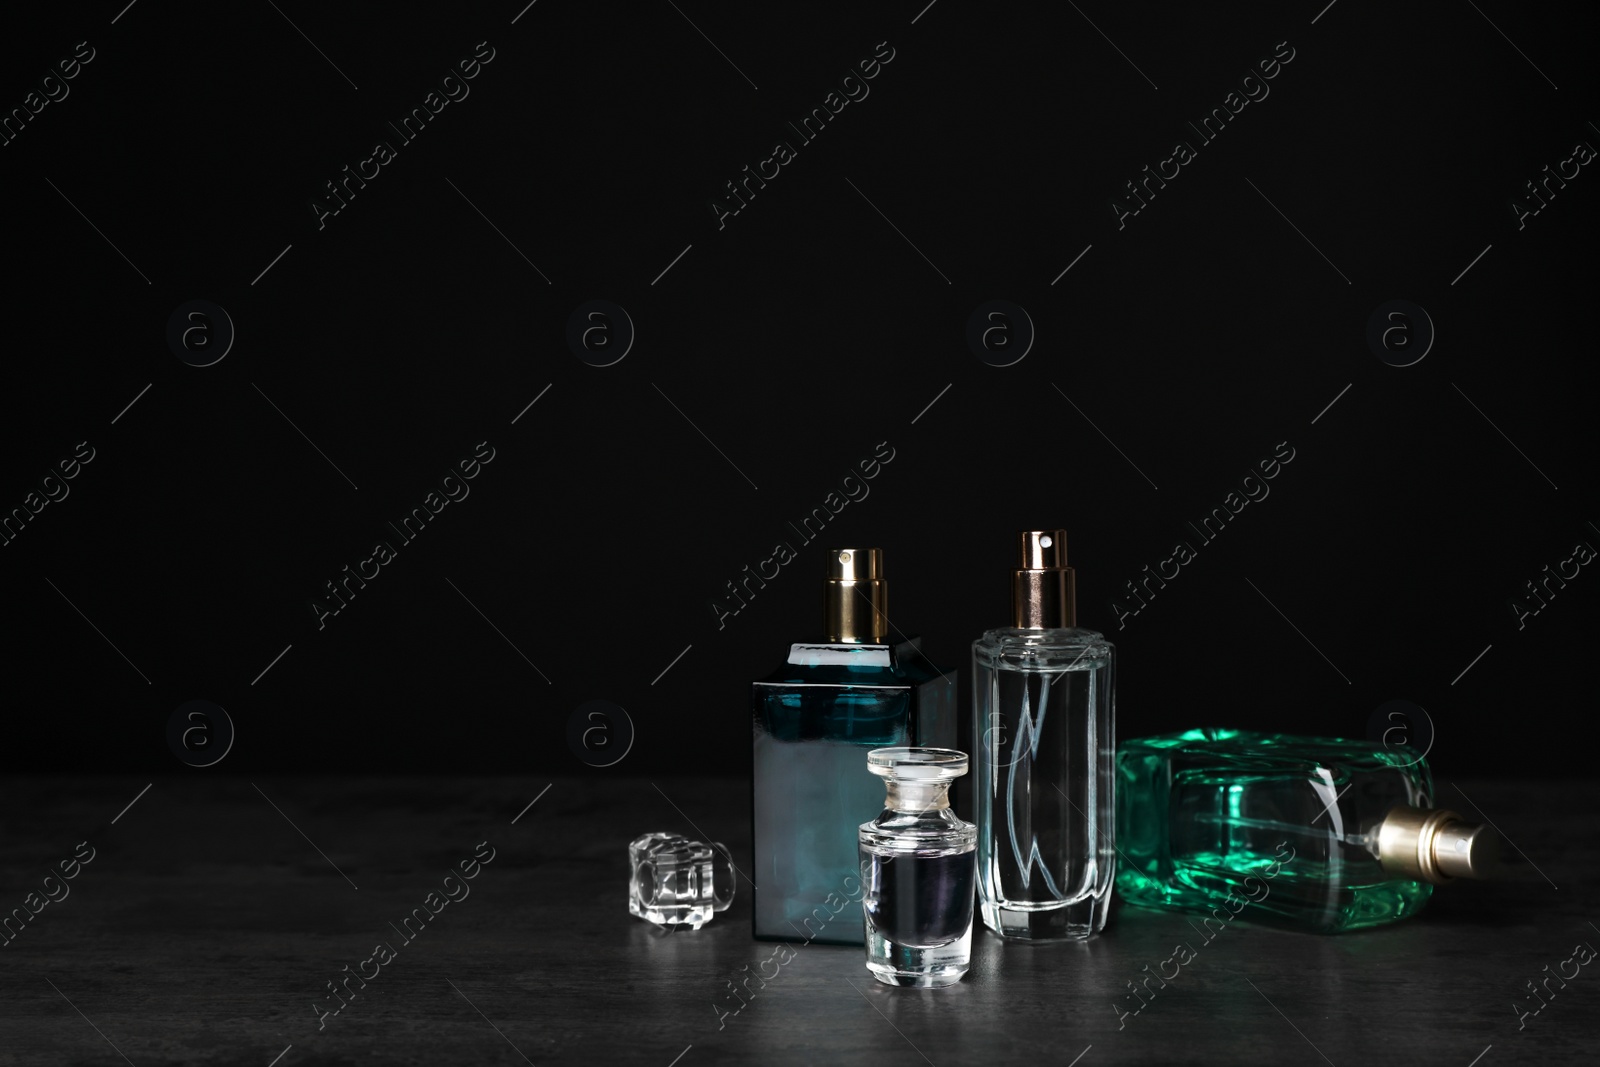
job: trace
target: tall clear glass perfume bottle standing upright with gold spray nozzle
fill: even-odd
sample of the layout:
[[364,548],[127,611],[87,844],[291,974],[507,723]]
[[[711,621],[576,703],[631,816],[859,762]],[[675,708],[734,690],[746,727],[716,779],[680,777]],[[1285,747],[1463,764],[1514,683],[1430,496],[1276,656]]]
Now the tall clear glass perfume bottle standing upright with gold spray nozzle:
[[1075,627],[1062,530],[1019,536],[1011,625],[973,641],[978,904],[1003,937],[1106,926],[1115,875],[1112,645]]

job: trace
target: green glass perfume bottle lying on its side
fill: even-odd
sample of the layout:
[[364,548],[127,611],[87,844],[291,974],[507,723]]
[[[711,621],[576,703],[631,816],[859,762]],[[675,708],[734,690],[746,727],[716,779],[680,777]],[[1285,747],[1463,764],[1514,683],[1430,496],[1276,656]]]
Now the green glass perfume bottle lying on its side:
[[1414,915],[1435,885],[1493,877],[1499,838],[1432,806],[1411,747],[1242,729],[1128,741],[1117,753],[1128,904],[1317,933]]

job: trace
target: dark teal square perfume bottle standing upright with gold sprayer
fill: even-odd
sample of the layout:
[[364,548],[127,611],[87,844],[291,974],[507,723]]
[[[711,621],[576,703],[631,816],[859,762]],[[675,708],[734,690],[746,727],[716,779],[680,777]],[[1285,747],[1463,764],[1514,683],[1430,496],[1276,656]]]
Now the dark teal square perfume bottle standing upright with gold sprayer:
[[886,745],[955,747],[954,675],[888,629],[883,553],[830,549],[822,640],[790,645],[750,689],[758,939],[859,945],[856,829],[883,800],[861,761]]

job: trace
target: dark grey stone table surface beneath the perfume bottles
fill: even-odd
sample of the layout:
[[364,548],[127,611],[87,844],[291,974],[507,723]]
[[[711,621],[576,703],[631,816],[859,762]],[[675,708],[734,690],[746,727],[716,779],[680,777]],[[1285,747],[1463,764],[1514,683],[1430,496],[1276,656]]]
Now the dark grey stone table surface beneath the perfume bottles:
[[[963,982],[902,990],[861,949],[760,968],[773,945],[750,939],[742,883],[701,931],[627,915],[645,830],[725,841],[749,870],[738,779],[147,781],[0,787],[0,1064],[1600,1061],[1600,968],[1526,989],[1600,945],[1589,782],[1440,784],[1533,867],[1440,889],[1406,923],[1328,937],[1242,917],[1202,944],[1182,915],[1120,907],[1086,944],[978,933]],[[46,881],[62,862],[75,877]],[[437,915],[406,941],[395,925],[424,904]],[[331,982],[378,969],[378,976],[334,1000]],[[1120,1016],[1178,942],[1195,958]]]

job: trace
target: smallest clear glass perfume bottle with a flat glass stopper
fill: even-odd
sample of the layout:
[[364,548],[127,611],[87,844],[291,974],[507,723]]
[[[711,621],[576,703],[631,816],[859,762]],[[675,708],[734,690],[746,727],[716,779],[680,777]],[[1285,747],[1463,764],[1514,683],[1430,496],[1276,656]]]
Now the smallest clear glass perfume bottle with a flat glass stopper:
[[888,792],[859,830],[867,969],[886,985],[958,982],[973,952],[978,827],[950,811],[949,792],[966,753],[874,749],[867,769]]

